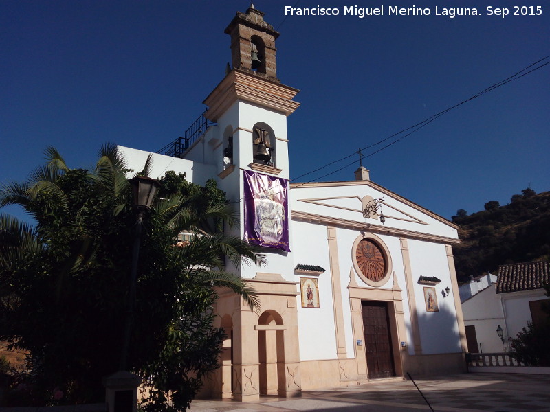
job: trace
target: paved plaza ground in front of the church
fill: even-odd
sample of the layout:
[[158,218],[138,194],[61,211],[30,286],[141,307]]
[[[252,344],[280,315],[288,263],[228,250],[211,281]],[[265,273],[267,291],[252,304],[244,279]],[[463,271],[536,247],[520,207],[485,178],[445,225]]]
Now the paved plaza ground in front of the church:
[[[550,412],[550,376],[460,374],[416,380],[436,412]],[[410,380],[303,391],[301,398],[261,397],[259,402],[195,400],[192,412],[420,412],[430,411]]]

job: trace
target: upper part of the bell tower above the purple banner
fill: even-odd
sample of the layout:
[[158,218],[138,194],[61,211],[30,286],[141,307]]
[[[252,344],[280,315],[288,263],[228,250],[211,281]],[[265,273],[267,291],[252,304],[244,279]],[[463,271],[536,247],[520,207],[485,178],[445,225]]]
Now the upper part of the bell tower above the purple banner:
[[212,159],[228,194],[234,192],[227,187],[236,179],[232,170],[289,179],[287,116],[300,106],[292,100],[298,90],[277,78],[279,33],[263,16],[254,5],[236,13],[225,29],[231,37],[232,68],[203,102],[208,106],[205,117],[218,124],[210,146],[221,146]]

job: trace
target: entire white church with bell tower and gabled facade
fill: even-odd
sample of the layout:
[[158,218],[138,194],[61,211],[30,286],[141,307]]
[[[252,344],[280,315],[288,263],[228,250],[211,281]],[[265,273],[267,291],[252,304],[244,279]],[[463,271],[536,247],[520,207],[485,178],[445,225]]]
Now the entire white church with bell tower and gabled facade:
[[[289,147],[303,137],[287,130],[298,90],[276,77],[279,33],[253,7],[225,33],[232,69],[204,101],[198,131],[169,145],[169,155],[153,154],[153,177],[174,170],[194,183],[216,179],[241,216],[233,233],[262,244],[268,258],[263,267],[228,264],[256,288],[261,312],[221,294],[228,339],[203,396],[299,396],[406,372],[464,371],[456,225],[377,185],[365,168],[352,181],[289,185]],[[149,155],[120,151],[136,170]]]

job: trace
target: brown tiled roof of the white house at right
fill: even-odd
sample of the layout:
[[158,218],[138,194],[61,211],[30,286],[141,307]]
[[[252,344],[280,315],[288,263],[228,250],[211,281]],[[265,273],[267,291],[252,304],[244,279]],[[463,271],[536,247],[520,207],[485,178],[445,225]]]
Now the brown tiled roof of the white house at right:
[[550,283],[550,262],[528,262],[498,266],[496,293],[541,289]]

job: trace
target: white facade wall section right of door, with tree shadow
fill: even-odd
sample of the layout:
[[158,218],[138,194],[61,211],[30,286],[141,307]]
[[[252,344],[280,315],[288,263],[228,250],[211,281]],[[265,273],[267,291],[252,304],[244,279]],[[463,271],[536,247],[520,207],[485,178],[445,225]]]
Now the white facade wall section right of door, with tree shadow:
[[[408,247],[423,354],[461,352],[459,325],[456,320],[445,245],[409,240]],[[435,286],[420,285],[420,276],[437,277],[441,279],[441,283]],[[435,288],[439,312],[426,311],[425,287]],[[450,295],[443,297],[441,290],[447,287],[450,288]]]

